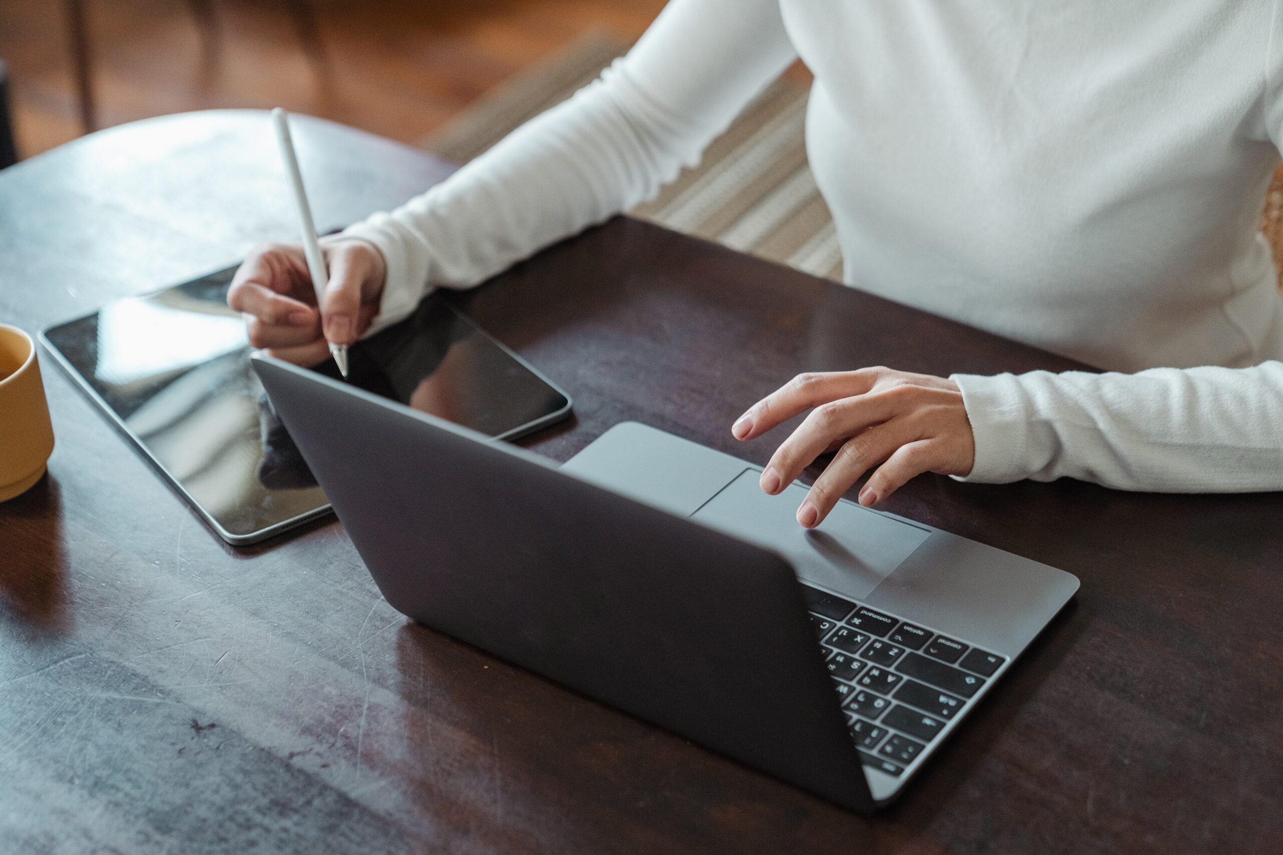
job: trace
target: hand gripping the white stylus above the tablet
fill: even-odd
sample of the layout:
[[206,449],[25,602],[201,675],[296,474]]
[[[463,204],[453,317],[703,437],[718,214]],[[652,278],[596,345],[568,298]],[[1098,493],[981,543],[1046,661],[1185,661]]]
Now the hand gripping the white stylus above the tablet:
[[314,365],[330,356],[330,344],[350,345],[370,328],[387,277],[382,253],[368,241],[335,237],[321,242],[321,254],[330,285],[319,310],[302,246],[268,244],[245,258],[227,305],[245,314],[251,346]]

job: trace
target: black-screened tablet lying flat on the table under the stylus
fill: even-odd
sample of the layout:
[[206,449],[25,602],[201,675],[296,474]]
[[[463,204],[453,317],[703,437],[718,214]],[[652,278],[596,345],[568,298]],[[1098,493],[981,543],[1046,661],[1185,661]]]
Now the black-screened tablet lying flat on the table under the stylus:
[[[235,272],[117,300],[40,337],[223,540],[253,544],[330,504],[250,368],[245,323],[227,308]],[[334,360],[313,370],[337,377]],[[353,345],[348,381],[498,440],[571,409],[552,381],[432,296]]]

